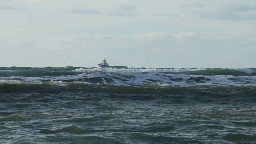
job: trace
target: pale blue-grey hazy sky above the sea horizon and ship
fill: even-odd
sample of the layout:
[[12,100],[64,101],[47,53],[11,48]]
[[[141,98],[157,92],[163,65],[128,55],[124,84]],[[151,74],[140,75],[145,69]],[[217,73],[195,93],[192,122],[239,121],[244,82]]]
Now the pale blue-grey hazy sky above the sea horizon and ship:
[[256,68],[256,0],[0,0],[0,67]]

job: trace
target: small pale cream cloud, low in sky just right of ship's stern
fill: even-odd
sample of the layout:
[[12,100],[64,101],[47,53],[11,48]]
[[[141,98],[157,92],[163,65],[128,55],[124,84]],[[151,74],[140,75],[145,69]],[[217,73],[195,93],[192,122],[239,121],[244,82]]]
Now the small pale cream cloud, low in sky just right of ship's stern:
[[152,33],[139,33],[134,36],[138,41],[151,41],[164,39],[168,36],[167,32],[152,32]]

